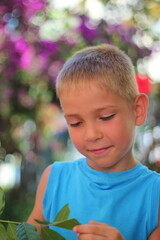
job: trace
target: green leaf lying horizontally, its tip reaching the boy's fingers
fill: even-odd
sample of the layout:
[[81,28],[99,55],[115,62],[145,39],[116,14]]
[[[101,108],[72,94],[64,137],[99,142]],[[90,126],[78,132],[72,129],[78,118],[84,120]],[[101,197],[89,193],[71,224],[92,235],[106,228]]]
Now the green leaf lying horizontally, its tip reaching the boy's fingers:
[[71,218],[71,219],[67,219],[59,222],[52,222],[50,224],[50,226],[57,226],[57,227],[65,228],[68,230],[72,230],[73,227],[76,225],[80,225],[80,223],[75,218]]

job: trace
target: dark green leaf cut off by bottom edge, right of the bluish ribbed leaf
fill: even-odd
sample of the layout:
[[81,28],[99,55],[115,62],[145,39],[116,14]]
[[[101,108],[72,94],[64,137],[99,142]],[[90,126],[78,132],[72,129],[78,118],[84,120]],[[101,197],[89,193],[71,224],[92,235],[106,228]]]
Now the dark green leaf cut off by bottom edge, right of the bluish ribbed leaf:
[[42,238],[43,240],[65,240],[59,233],[49,229],[49,228],[42,228]]

